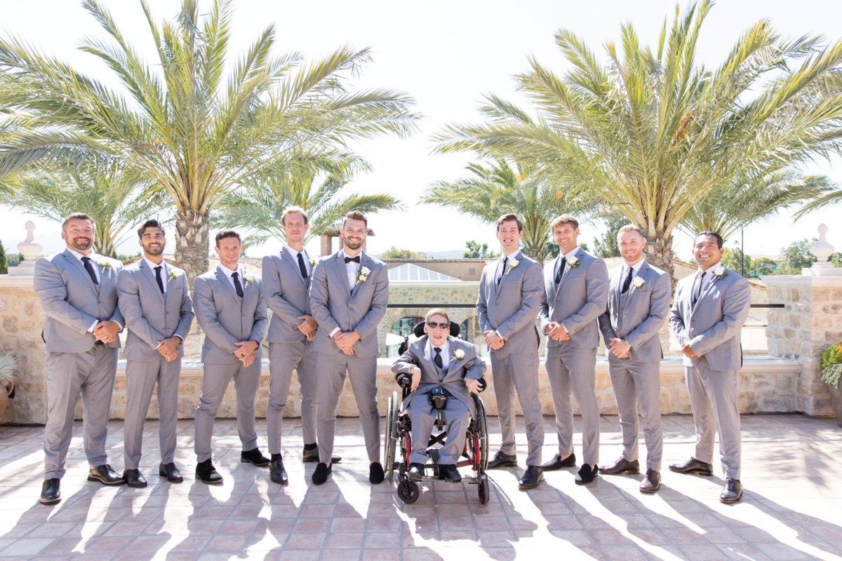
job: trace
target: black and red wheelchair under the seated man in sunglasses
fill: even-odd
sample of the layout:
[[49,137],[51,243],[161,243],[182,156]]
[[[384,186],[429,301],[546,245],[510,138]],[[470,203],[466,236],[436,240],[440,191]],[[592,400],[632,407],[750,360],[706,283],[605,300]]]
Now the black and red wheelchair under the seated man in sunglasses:
[[[415,325],[415,336],[424,335],[424,321]],[[460,327],[455,322],[450,322],[450,336],[459,336]],[[408,411],[401,410],[403,400],[409,395],[409,384],[401,384],[400,378],[406,374],[396,374],[395,380],[402,387],[402,398],[398,399],[397,391],[392,392],[387,404],[386,416],[386,433],[383,439],[383,452],[386,461],[386,478],[392,482],[395,472],[397,471],[397,496],[406,504],[412,504],[418,500],[420,489],[418,483],[412,481],[408,477],[409,470],[409,453],[413,448],[412,426],[409,419]],[[482,389],[485,389],[486,384],[482,382]],[[488,499],[491,494],[491,487],[488,483],[488,475],[485,473],[488,469],[488,419],[485,414],[485,405],[482,405],[482,400],[477,394],[471,394],[474,401],[474,406],[477,414],[472,418],[467,431],[465,433],[465,451],[461,458],[456,463],[456,468],[464,468],[471,466],[473,475],[471,477],[463,478],[468,484],[476,484],[479,494],[480,502],[485,505],[488,504]],[[445,429],[445,421],[442,415],[442,410],[436,410],[436,419],[434,421],[434,433],[429,439],[429,461],[424,466],[424,479],[438,479],[439,477],[439,454],[434,447],[436,445],[443,446],[447,438],[447,431]],[[436,433],[435,431],[439,432]],[[400,456],[397,456],[398,449]],[[432,476],[426,474],[432,472]]]

